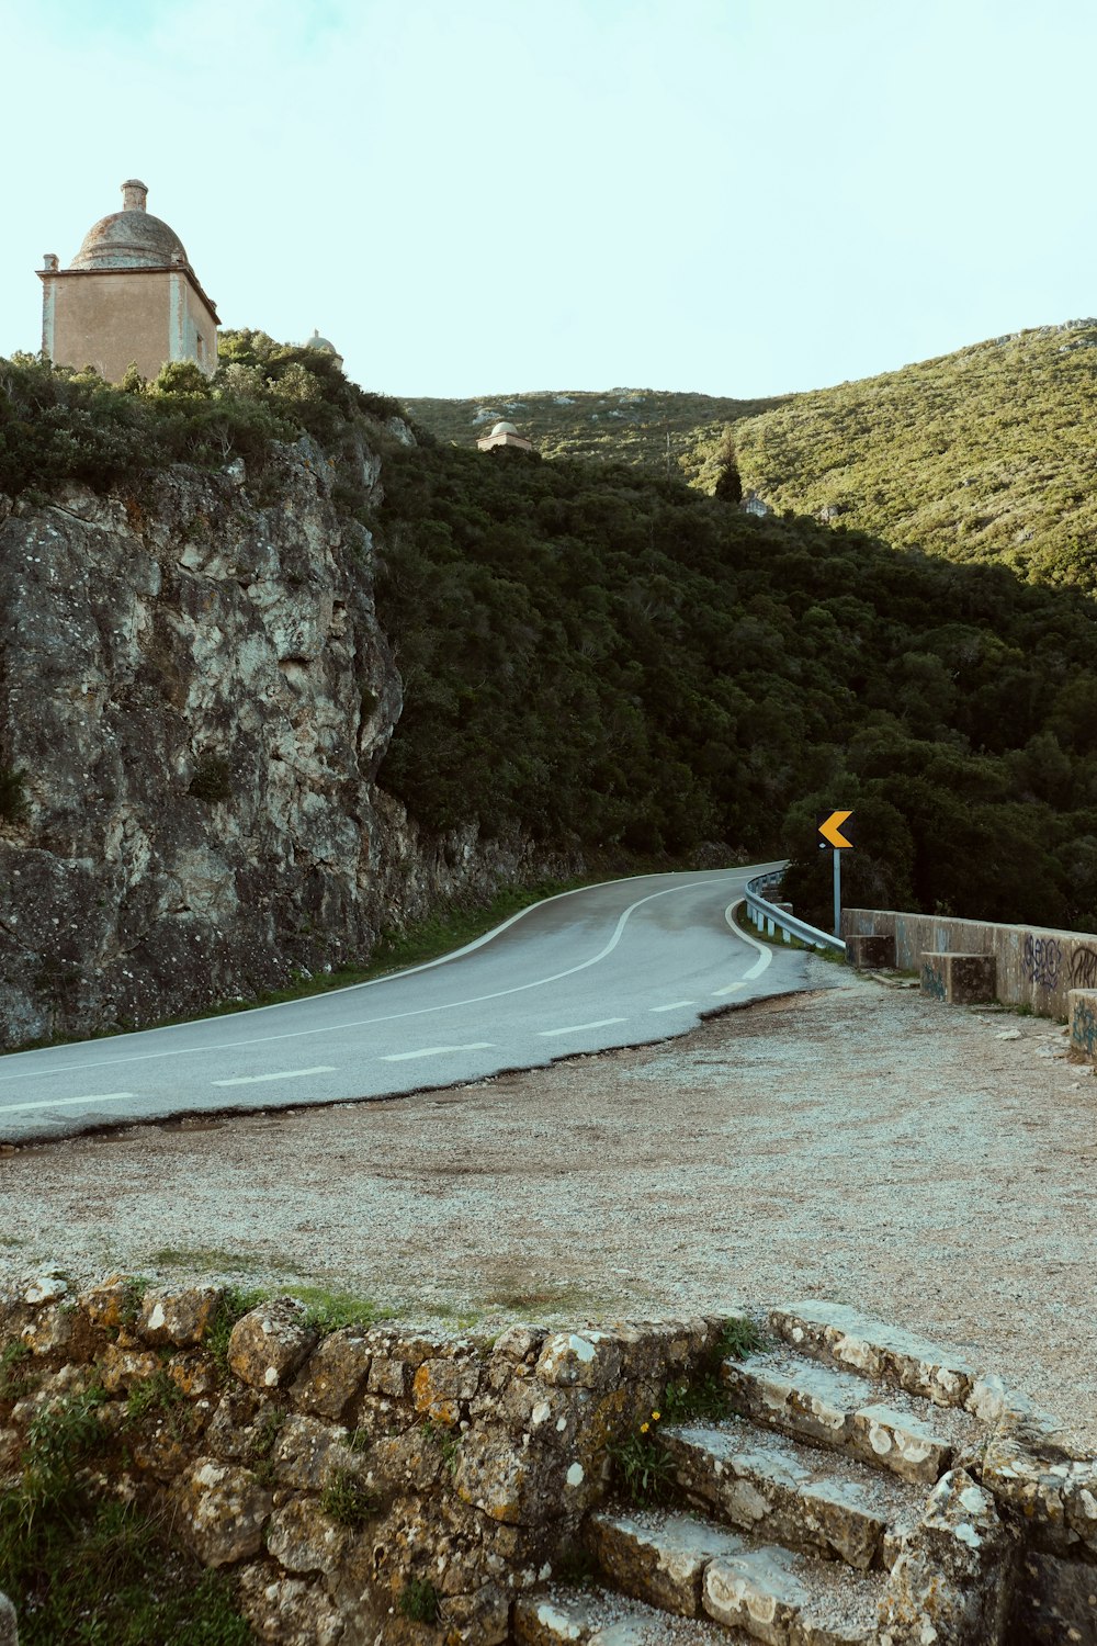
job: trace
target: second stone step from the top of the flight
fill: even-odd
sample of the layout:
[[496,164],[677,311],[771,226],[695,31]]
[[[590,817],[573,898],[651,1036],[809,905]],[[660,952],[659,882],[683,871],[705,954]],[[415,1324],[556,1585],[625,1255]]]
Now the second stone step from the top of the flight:
[[720,1376],[743,1417],[926,1488],[979,1444],[969,1412],[944,1411],[923,1396],[788,1350],[727,1360]]

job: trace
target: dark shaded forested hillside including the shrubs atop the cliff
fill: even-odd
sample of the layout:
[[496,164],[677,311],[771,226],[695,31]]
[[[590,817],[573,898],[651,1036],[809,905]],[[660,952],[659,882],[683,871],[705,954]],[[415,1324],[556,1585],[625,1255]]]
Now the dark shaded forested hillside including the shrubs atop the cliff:
[[270,443],[308,430],[372,533],[357,574],[405,691],[378,782],[424,828],[477,818],[622,866],[814,861],[812,815],[842,805],[850,900],[1097,925],[1081,591],[755,520],[643,467],[408,446],[329,359],[253,334],[230,352],[212,390],[3,367],[0,484],[39,502],[74,472],[140,504],[141,466],[237,451],[262,484]]

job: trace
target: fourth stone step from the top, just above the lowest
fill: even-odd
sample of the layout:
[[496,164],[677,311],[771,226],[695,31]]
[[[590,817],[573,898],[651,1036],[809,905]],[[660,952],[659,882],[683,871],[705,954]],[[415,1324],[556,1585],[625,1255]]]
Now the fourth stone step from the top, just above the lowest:
[[714,1618],[771,1646],[865,1646],[882,1574],[850,1572],[669,1511],[595,1513],[587,1547],[627,1595],[691,1618]]

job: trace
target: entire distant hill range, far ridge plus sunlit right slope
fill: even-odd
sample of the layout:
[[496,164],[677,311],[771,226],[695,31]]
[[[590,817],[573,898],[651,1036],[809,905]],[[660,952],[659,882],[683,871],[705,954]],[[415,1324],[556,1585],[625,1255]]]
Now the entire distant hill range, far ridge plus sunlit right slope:
[[773,400],[610,390],[414,400],[442,441],[497,418],[548,458],[674,471],[712,491],[730,425],[742,482],[775,510],[956,561],[1097,589],[1097,319],[995,337],[898,372]]

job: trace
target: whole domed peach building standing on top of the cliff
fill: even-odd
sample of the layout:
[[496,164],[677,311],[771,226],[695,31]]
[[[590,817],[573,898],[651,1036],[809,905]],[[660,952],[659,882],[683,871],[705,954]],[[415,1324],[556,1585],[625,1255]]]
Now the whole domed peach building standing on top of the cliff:
[[145,209],[148,189],[122,184],[122,211],[100,217],[67,268],[46,253],[43,352],[54,365],[94,365],[118,382],[130,362],[155,377],[166,360],[217,370],[217,309],[183,240]]

